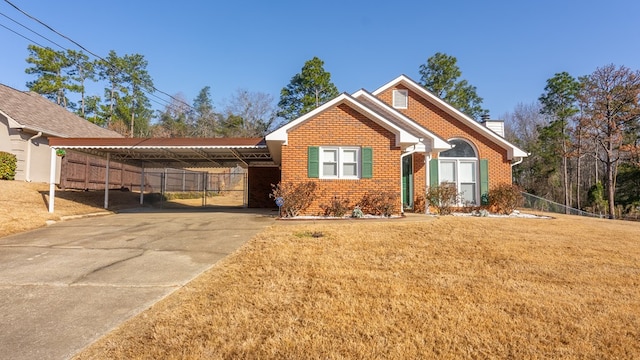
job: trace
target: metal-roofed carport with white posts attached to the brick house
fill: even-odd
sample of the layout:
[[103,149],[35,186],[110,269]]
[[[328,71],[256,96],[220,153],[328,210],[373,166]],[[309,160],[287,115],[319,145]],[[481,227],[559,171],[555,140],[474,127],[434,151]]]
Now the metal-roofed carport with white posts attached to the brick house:
[[[56,156],[73,150],[107,160],[104,208],[109,207],[109,163],[145,168],[274,167],[263,138],[50,138],[49,212],[55,209]],[[142,190],[142,189],[141,189]],[[247,189],[245,189],[247,191]],[[143,202],[140,191],[140,204]]]

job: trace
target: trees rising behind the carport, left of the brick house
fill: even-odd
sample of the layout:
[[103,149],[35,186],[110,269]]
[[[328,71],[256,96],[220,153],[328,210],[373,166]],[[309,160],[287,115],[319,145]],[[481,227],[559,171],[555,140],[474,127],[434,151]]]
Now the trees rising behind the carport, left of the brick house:
[[[35,76],[26,84],[29,90],[125,136],[260,137],[276,120],[270,95],[237,90],[225,109],[217,112],[209,86],[200,90],[192,104],[180,95],[169,95],[163,110],[154,111],[151,101],[160,98],[140,54],[120,56],[112,50],[104,58],[90,60],[76,50],[29,45],[28,51],[25,72]],[[88,93],[87,89],[96,87],[102,87],[101,94]]]

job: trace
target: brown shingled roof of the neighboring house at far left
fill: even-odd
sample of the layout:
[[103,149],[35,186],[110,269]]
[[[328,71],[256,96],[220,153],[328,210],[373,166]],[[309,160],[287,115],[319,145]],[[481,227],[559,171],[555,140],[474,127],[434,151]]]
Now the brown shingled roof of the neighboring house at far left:
[[122,137],[115,131],[101,128],[40,94],[20,91],[0,84],[0,114],[9,127],[42,132],[52,137]]

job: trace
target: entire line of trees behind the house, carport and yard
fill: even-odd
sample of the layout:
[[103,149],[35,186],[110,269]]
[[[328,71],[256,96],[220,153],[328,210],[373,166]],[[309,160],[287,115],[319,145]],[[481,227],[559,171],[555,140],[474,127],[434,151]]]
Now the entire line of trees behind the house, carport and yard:
[[[156,90],[142,55],[90,61],[82,52],[30,45],[27,87],[100,126],[135,137],[262,137],[338,96],[318,57],[306,61],[280,91],[238,90],[216,111],[205,86],[192,104],[170,97],[151,110]],[[456,109],[480,121],[488,114],[475,86],[461,79],[453,56],[436,53],[418,67],[420,83]],[[103,95],[87,95],[87,82]],[[69,94],[77,94],[72,102]],[[536,102],[505,114],[505,136],[531,155],[513,168],[514,183],[567,207],[615,217],[640,212],[640,72],[607,65],[578,78],[567,72],[547,80]],[[152,124],[151,120],[156,121]]]

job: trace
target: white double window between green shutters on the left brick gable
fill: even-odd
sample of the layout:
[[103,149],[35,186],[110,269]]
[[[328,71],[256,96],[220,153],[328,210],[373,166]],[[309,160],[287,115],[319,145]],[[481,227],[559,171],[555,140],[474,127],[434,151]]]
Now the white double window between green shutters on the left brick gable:
[[358,179],[360,177],[360,148],[321,147],[320,178]]

